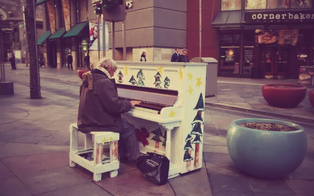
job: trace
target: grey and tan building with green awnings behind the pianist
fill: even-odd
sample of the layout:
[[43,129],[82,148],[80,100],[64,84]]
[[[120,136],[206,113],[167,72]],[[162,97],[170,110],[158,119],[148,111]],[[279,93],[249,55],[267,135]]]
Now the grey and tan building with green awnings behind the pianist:
[[[67,2],[70,29],[66,29],[64,19]],[[92,47],[96,43],[93,36],[97,37],[98,31],[95,29],[99,28],[98,20],[101,23],[101,18],[98,19],[94,13],[96,2],[97,0],[37,1],[38,5],[45,6],[43,24],[46,34],[38,38],[38,44],[46,46],[44,56],[47,67],[67,68],[69,52],[73,56],[74,70],[88,67],[84,61],[87,54],[92,64],[96,64],[103,56],[102,50],[97,50],[98,46],[96,50],[95,46]],[[128,61],[139,61],[142,52],[146,52],[147,61],[170,61],[175,47],[186,46],[186,0],[133,0],[127,1],[126,6]],[[106,23],[109,37],[106,56],[112,58],[112,24]],[[116,56],[113,58],[122,60],[122,22],[114,25]]]

